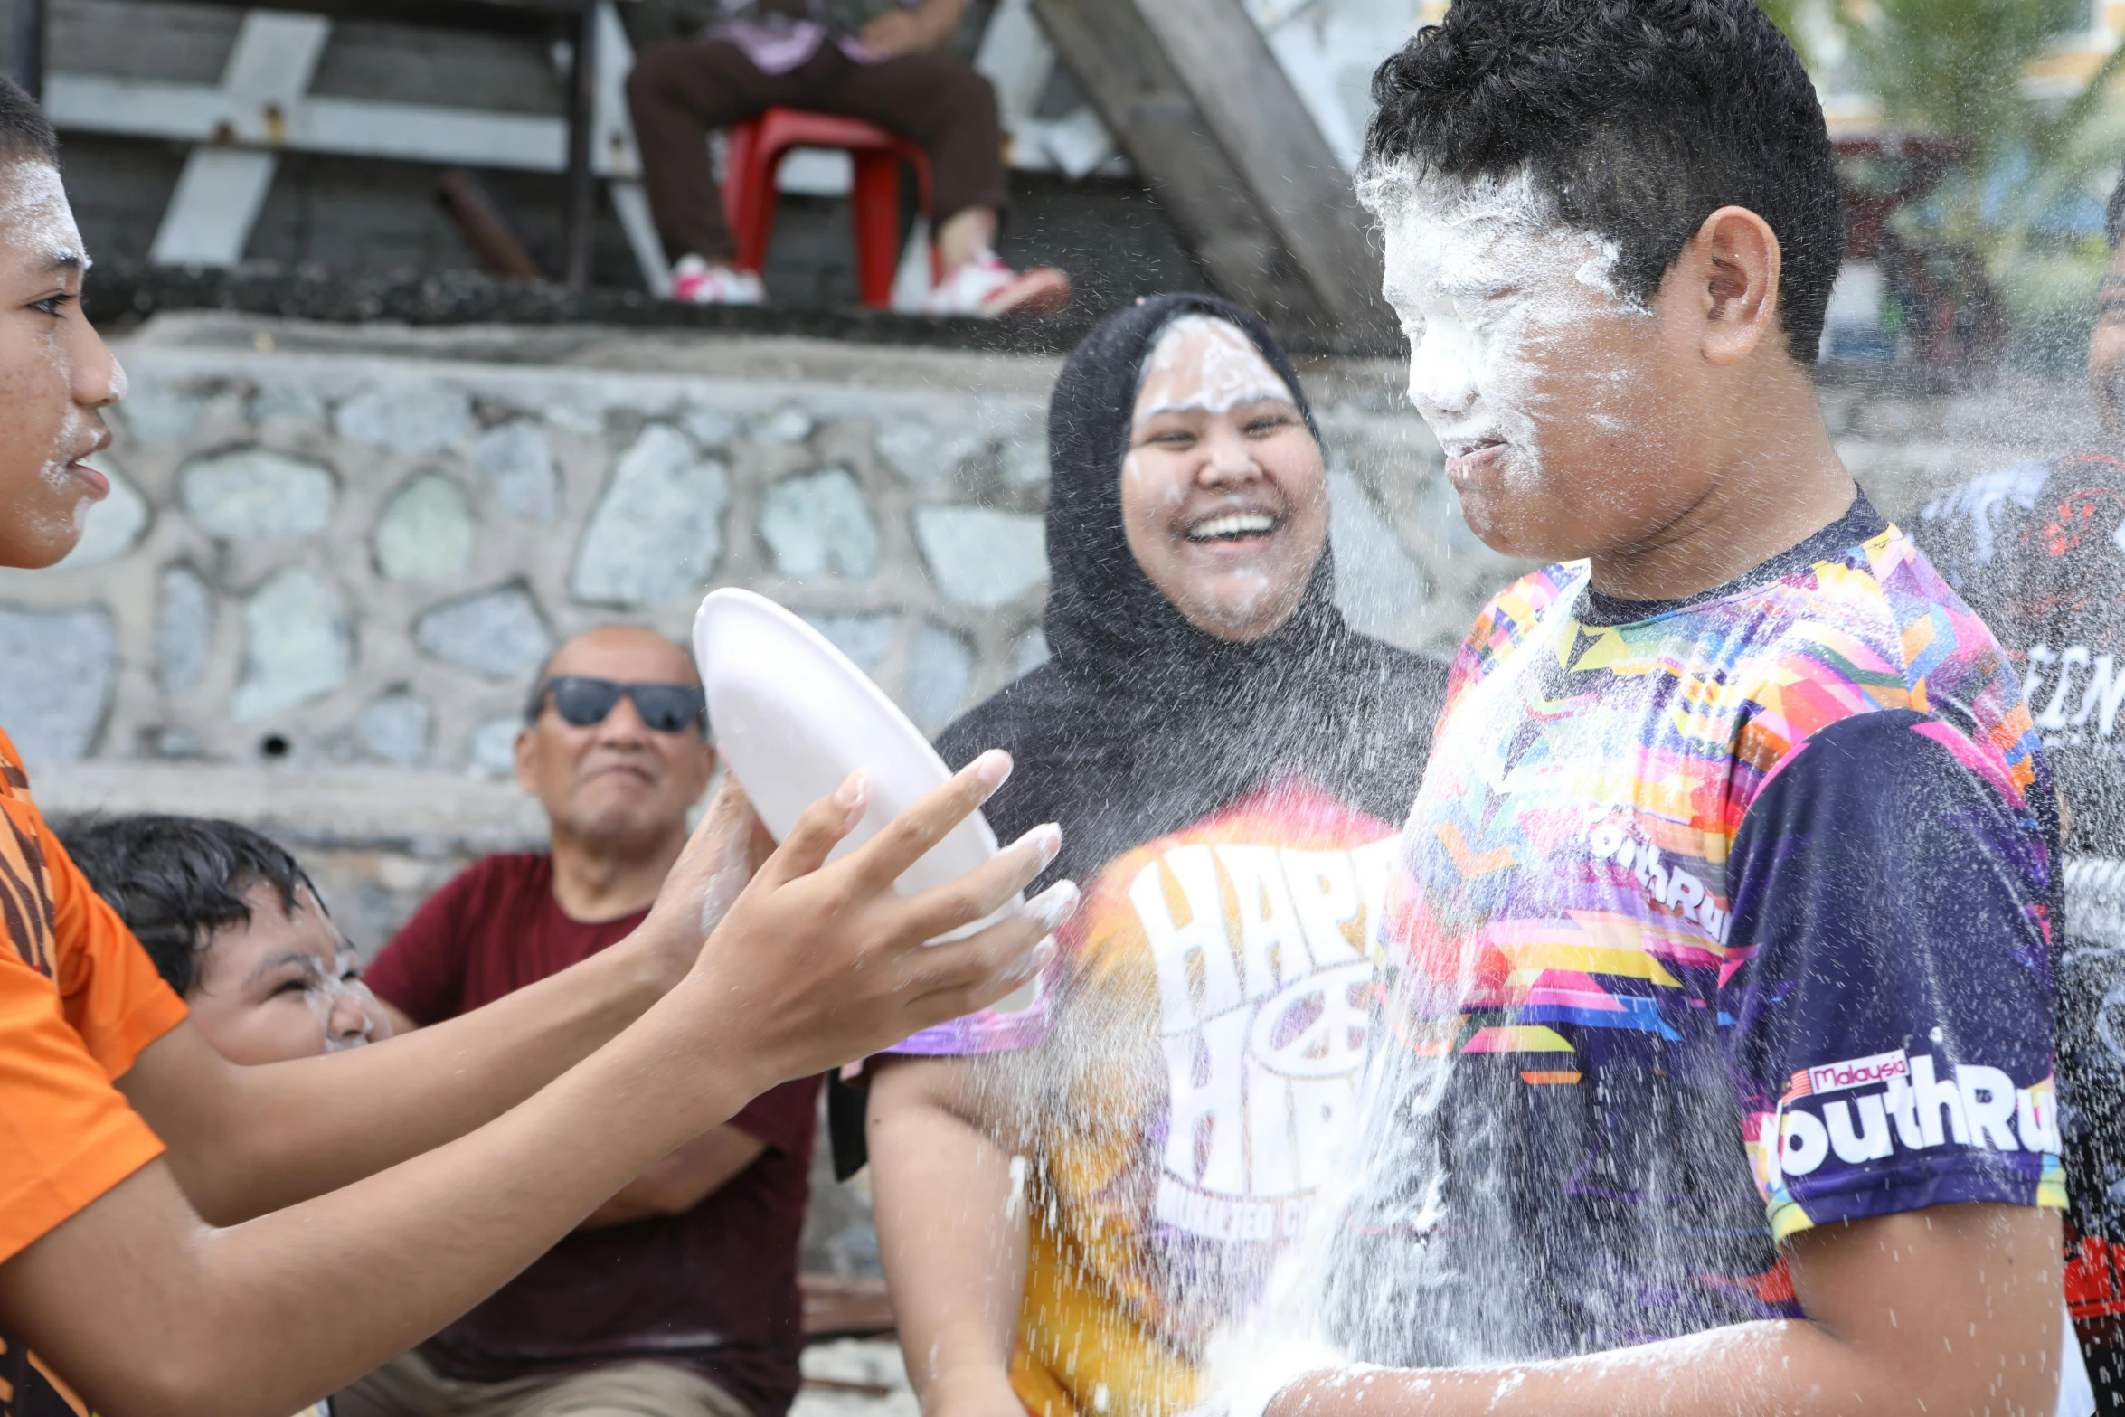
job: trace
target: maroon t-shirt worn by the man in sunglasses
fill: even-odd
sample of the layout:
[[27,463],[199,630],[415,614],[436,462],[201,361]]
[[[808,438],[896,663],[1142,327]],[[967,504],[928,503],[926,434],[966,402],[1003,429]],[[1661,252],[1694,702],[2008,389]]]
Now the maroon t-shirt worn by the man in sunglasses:
[[[570,920],[546,854],[487,856],[429,897],[363,979],[434,1024],[597,954],[644,914]],[[816,1098],[816,1077],[754,1098],[731,1124],[767,1149],[708,1200],[570,1234],[421,1355],[474,1383],[654,1358],[695,1368],[759,1417],[782,1417],[803,1345],[797,1234]]]

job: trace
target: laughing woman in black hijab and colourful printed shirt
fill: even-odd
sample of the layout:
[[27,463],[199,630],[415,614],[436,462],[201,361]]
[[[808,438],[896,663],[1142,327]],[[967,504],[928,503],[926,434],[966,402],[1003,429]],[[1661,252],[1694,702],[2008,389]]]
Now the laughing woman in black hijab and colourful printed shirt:
[[[1334,608],[1320,431],[1245,310],[1162,295],[1048,414],[1052,659],[939,739],[1086,888],[1043,996],[878,1069],[878,1228],[929,1417],[1164,1413],[1334,1164],[1394,824],[1445,690]],[[1022,1158],[1022,1160],[1018,1160]],[[1028,1224],[1031,1215],[1031,1224]]]

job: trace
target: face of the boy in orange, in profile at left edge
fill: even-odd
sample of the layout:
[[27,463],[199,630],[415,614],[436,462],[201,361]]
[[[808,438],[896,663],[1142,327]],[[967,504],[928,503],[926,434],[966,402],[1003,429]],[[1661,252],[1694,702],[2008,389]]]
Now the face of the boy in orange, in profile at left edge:
[[125,374],[81,314],[87,266],[60,170],[0,161],[0,565],[66,557],[110,491],[81,459],[110,446]]

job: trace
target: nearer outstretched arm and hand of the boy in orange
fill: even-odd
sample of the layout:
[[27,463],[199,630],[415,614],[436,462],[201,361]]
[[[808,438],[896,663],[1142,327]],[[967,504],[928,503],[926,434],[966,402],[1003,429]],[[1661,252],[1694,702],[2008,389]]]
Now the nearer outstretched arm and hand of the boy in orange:
[[[844,784],[746,886],[678,988],[470,1137],[219,1230],[168,1164],[144,1166],[0,1264],[0,1328],[113,1417],[285,1417],[340,1387],[776,1081],[888,1047],[1024,981],[1050,952],[1037,941],[1073,905],[1069,888],[969,939],[924,941],[1012,899],[1054,858],[1052,831],[918,897],[892,886],[1005,767],[1003,754],[975,761],[822,867],[863,814],[861,780]],[[699,890],[688,907],[699,920]]]

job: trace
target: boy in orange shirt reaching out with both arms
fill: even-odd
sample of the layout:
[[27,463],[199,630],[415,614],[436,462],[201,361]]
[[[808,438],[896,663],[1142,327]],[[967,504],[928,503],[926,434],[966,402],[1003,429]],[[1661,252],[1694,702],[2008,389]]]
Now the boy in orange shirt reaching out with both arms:
[[[0,565],[60,561],[108,491],[81,459],[125,385],[85,268],[51,125],[0,81]],[[922,897],[892,882],[1007,771],[986,754],[827,867],[863,816],[852,778],[750,882],[752,814],[718,799],[631,939],[436,1028],[246,1069],[81,877],[0,733],[0,1413],[287,1417],[748,1098],[1001,998],[1058,901],[924,941],[1009,901],[1058,833]]]

